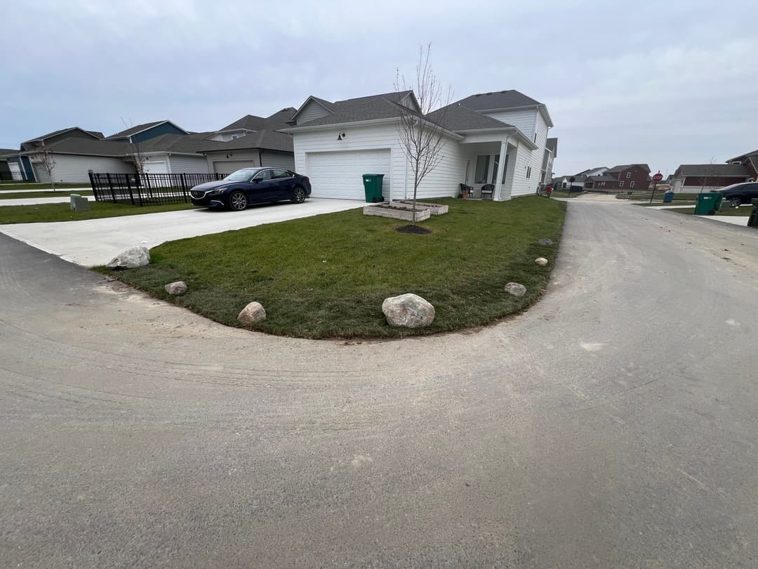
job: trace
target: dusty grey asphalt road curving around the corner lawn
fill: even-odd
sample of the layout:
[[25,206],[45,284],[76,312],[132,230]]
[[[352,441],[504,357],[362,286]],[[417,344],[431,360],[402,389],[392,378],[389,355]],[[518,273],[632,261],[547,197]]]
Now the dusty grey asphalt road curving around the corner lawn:
[[303,341],[0,236],[0,566],[755,567],[756,256],[572,201],[526,313]]

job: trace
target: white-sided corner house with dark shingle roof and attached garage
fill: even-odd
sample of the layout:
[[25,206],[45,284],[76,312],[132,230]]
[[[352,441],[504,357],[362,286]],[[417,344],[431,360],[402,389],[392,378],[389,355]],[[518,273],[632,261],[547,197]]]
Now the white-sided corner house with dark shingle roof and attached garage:
[[[412,197],[413,177],[399,140],[400,105],[418,112],[412,91],[329,102],[310,96],[290,120],[295,169],[311,179],[312,195],[362,199],[362,174],[384,174],[387,199]],[[553,122],[543,103],[518,91],[461,99],[426,118],[445,128],[437,168],[418,197],[457,196],[459,184],[493,199],[535,193]],[[501,157],[503,158],[501,160]]]

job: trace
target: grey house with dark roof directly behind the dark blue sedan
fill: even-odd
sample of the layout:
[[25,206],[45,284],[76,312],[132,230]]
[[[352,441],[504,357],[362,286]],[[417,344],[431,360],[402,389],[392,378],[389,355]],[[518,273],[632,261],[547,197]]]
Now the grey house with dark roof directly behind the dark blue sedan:
[[246,115],[208,137],[198,149],[205,156],[206,171],[230,174],[240,168],[278,166],[295,169],[293,139],[279,132],[296,112],[287,107],[263,118]]

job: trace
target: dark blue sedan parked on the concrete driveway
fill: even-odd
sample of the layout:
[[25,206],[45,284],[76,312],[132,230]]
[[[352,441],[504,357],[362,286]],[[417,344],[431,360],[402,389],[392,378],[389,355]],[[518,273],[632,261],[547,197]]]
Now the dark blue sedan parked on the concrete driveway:
[[250,203],[303,203],[310,195],[311,181],[307,177],[282,168],[243,168],[221,181],[189,190],[193,206],[225,207],[238,212]]

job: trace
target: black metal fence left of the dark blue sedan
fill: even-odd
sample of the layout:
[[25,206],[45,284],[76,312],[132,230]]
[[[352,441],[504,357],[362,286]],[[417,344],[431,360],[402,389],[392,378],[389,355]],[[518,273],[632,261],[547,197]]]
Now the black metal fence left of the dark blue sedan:
[[189,190],[198,184],[223,180],[227,174],[96,174],[89,173],[92,193],[99,202],[156,206],[189,203]]

